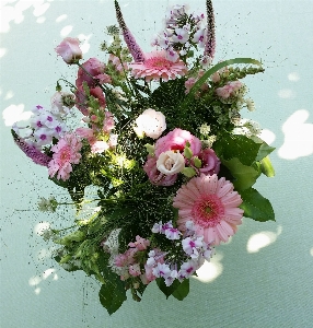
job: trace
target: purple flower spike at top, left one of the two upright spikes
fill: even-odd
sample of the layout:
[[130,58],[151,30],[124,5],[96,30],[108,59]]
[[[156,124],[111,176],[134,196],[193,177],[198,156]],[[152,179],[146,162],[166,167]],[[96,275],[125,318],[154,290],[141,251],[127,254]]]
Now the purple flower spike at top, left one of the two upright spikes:
[[138,46],[138,44],[136,43],[134,35],[130,33],[130,31],[128,30],[124,21],[118,2],[116,0],[114,2],[115,2],[116,19],[119,27],[123,31],[124,40],[127,44],[129,52],[131,54],[135,62],[144,62],[144,55],[140,49],[140,47]]

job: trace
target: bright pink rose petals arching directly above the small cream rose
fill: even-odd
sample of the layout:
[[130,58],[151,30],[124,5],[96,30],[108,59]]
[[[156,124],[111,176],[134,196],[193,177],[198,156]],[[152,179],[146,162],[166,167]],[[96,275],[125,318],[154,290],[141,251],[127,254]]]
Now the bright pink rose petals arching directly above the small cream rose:
[[161,153],[169,150],[183,152],[187,141],[190,143],[193,155],[197,156],[201,150],[201,141],[189,131],[177,128],[156,141],[154,152],[155,156],[159,157]]

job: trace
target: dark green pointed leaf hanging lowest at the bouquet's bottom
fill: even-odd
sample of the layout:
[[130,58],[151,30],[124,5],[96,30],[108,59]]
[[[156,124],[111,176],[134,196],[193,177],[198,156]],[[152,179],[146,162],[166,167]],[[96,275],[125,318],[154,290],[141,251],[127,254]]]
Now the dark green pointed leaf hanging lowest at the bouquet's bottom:
[[109,315],[115,313],[124,301],[127,300],[124,283],[119,277],[115,274],[117,279],[106,280],[101,286],[98,292],[98,298],[103,307],[105,307]]

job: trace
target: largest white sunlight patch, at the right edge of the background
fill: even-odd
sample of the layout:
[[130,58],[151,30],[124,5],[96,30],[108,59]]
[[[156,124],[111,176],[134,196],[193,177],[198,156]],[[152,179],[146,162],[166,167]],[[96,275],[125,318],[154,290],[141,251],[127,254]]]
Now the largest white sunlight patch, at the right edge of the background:
[[306,109],[299,109],[282,125],[285,141],[278,150],[281,159],[297,160],[313,153],[313,124],[305,122],[309,116]]

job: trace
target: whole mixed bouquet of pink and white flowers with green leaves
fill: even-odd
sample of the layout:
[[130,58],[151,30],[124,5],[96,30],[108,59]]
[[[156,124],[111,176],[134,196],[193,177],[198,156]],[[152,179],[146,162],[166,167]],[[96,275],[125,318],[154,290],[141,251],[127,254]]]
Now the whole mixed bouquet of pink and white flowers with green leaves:
[[[12,128],[19,148],[68,190],[77,213],[92,207],[90,216],[44,237],[58,245],[54,258],[63,269],[101,283],[109,314],[127,290],[140,301],[154,280],[166,297],[183,300],[189,277],[243,216],[275,220],[253,188],[262,174],[274,176],[274,148],[241,116],[254,109],[241,80],[264,69],[251,58],[212,63],[210,0],[206,7],[206,15],[171,8],[144,54],[115,0],[119,26],[107,27],[105,62],[81,62],[79,39],[65,38],[56,52],[78,67],[74,84],[58,80],[50,106],[35,106],[27,126]],[[97,196],[86,199],[91,186]],[[39,202],[43,211],[60,206],[55,197]]]

